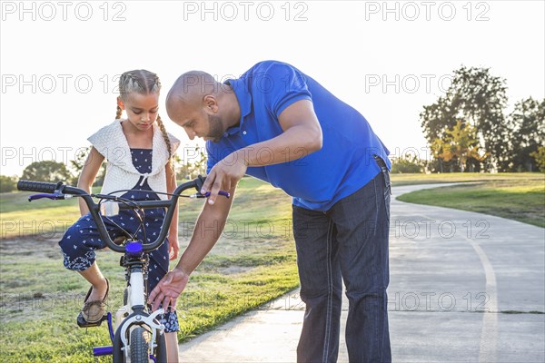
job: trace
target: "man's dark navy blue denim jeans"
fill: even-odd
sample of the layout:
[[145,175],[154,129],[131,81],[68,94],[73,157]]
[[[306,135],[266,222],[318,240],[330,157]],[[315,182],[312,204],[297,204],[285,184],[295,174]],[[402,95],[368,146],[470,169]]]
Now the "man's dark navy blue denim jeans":
[[293,206],[293,235],[306,304],[298,362],[336,362],[342,281],[349,300],[346,345],[351,362],[391,362],[388,329],[387,170],[331,210]]

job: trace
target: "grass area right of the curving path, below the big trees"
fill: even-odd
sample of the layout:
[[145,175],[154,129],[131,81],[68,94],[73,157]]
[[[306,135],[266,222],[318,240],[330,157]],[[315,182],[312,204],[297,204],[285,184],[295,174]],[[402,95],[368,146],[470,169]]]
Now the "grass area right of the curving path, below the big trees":
[[[545,175],[521,174],[453,175],[446,182],[479,182],[467,185],[412,191],[400,201],[437,205],[464,211],[478,211],[515,221],[545,227]],[[396,178],[396,176],[393,176]],[[428,179],[429,178],[429,179]],[[445,181],[442,176],[408,175],[397,182],[426,183]]]

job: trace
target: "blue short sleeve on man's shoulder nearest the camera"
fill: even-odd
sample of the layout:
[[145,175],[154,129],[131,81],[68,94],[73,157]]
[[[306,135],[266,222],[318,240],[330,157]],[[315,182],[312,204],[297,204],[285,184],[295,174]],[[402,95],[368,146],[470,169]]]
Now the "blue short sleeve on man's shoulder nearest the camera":
[[258,76],[259,83],[256,85],[261,86],[263,93],[268,95],[265,103],[276,117],[292,103],[312,101],[304,74],[290,64],[274,62],[267,65],[264,67],[263,79],[260,80]]

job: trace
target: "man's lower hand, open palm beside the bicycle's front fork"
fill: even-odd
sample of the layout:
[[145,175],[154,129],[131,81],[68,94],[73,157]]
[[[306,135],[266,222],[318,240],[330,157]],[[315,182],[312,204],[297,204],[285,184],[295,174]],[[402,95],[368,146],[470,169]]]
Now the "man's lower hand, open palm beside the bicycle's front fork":
[[187,281],[189,281],[189,275],[176,268],[164,275],[148,297],[148,304],[152,305],[152,310],[159,309],[162,304],[165,310],[169,305],[175,309],[176,301],[185,289]]

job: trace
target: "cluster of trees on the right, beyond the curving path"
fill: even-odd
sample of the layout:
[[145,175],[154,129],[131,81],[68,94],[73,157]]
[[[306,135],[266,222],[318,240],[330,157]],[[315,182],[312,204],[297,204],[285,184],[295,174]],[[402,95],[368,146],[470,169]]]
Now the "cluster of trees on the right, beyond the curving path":
[[420,113],[431,172],[545,172],[545,99],[506,113],[507,82],[461,66],[447,92]]

